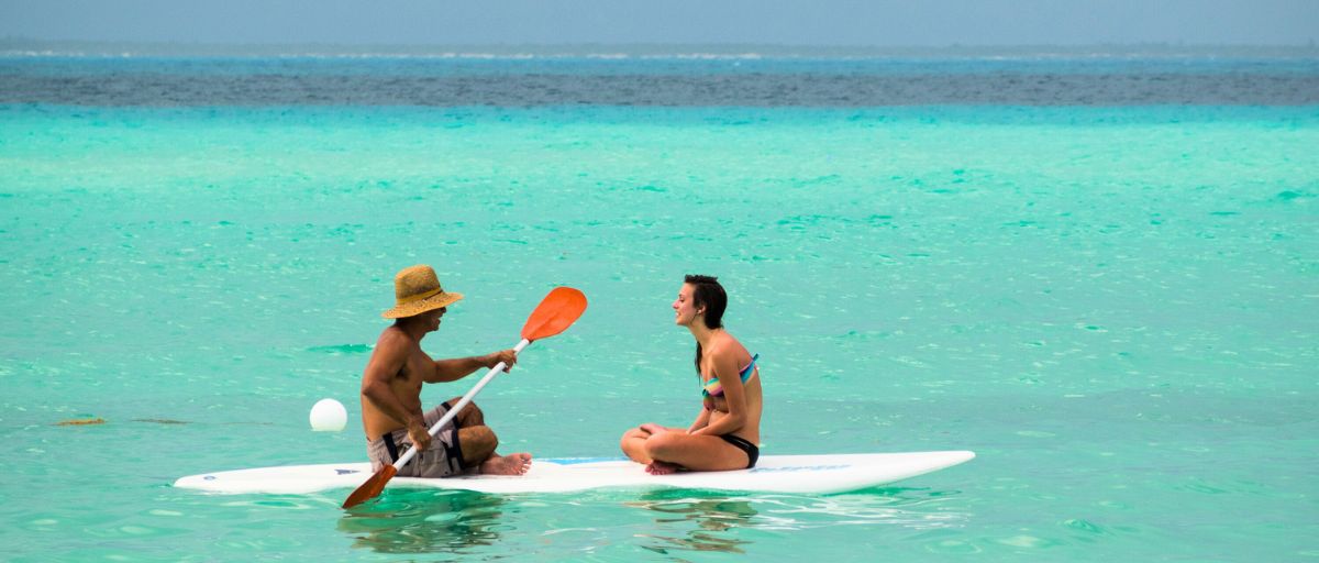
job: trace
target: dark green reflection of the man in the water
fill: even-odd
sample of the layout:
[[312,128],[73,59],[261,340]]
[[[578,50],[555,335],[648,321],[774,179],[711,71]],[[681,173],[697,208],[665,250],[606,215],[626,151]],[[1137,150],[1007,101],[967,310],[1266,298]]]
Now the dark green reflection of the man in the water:
[[504,500],[467,490],[386,490],[348,510],[339,530],[383,554],[466,554],[500,541]]

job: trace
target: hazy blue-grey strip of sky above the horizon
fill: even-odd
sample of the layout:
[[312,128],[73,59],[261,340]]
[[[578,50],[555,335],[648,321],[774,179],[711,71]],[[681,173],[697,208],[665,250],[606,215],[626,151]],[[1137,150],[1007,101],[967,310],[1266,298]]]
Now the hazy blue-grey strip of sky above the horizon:
[[0,0],[0,38],[335,45],[1314,45],[1319,0]]

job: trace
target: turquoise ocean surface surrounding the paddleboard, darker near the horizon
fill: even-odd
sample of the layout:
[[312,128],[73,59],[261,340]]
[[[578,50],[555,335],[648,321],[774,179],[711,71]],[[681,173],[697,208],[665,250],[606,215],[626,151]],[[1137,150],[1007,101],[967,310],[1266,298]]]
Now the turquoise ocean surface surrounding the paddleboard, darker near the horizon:
[[[9,50],[0,559],[1319,560],[1316,198],[1304,53]],[[364,459],[413,264],[467,295],[435,356],[591,302],[477,397],[501,451],[689,423],[704,273],[764,454],[977,458],[832,496],[171,487]]]

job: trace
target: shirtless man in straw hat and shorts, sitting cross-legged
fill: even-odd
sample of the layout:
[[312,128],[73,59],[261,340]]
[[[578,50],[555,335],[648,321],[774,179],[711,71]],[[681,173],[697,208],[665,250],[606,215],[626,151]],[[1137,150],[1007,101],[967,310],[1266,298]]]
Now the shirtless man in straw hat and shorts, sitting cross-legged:
[[470,403],[435,439],[427,430],[459,398],[431,410],[421,410],[421,385],[458,381],[480,368],[500,361],[512,369],[517,355],[512,349],[484,356],[433,360],[421,349],[421,339],[439,330],[448,306],[463,298],[445,291],[430,266],[405,268],[394,276],[394,309],[381,314],[396,319],[376,340],[376,349],[361,376],[361,423],[367,431],[367,454],[372,471],[393,464],[417,444],[418,454],[398,469],[408,477],[447,477],[464,472],[522,475],[532,464],[530,454],[501,456],[495,452],[499,439],[485,426],[484,413]]

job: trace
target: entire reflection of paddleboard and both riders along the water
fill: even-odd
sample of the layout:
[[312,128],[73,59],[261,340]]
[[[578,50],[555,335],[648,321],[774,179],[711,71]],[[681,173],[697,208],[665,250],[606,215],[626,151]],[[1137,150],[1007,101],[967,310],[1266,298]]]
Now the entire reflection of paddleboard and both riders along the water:
[[620,546],[681,558],[677,554],[757,552],[801,531],[840,525],[882,526],[892,538],[958,529],[971,518],[959,496],[911,488],[736,497],[681,489],[529,496],[386,489],[377,501],[347,512],[338,527],[353,547],[426,554],[429,560],[517,551],[572,559]]

